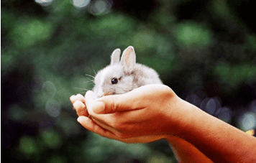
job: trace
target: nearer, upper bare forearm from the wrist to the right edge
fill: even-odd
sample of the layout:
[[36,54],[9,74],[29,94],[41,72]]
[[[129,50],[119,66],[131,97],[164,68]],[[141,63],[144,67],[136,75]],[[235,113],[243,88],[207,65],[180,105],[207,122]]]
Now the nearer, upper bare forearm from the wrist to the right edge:
[[[179,137],[190,142],[213,162],[256,162],[256,138],[181,101],[186,112]],[[199,121],[198,121],[199,120]]]

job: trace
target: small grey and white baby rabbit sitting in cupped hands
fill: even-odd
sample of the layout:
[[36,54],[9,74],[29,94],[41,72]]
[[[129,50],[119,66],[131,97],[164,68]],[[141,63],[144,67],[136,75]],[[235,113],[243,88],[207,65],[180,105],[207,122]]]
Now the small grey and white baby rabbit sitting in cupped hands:
[[150,67],[136,63],[132,46],[124,50],[121,61],[120,49],[111,55],[111,64],[100,70],[94,78],[93,92],[101,96],[127,93],[147,84],[163,84],[158,74]]

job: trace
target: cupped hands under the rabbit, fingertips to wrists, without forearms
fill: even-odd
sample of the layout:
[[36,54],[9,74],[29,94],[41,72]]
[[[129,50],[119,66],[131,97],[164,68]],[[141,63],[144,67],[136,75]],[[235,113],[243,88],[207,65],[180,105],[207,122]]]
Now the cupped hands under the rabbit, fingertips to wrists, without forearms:
[[86,102],[81,95],[71,96],[70,101],[81,125],[101,136],[145,143],[180,130],[170,123],[172,108],[180,98],[166,85],[145,85],[122,95],[93,97],[93,92],[88,91]]

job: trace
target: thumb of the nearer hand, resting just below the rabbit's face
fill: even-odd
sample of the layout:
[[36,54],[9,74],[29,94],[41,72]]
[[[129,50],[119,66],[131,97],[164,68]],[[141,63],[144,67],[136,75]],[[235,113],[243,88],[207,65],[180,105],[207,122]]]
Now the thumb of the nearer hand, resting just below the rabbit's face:
[[[104,96],[96,99],[91,106],[94,113],[115,113],[119,111],[130,111],[137,108],[134,101],[136,98],[131,98],[129,94]],[[133,101],[133,102],[132,102]]]

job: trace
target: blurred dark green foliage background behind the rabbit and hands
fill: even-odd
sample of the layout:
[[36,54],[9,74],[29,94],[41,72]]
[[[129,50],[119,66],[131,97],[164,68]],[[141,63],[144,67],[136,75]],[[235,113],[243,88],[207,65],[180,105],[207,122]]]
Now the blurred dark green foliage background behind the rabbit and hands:
[[1,1],[1,159],[176,162],[167,142],[124,144],[84,129],[69,97],[111,52],[134,46],[186,101],[256,127],[256,25],[249,0]]

